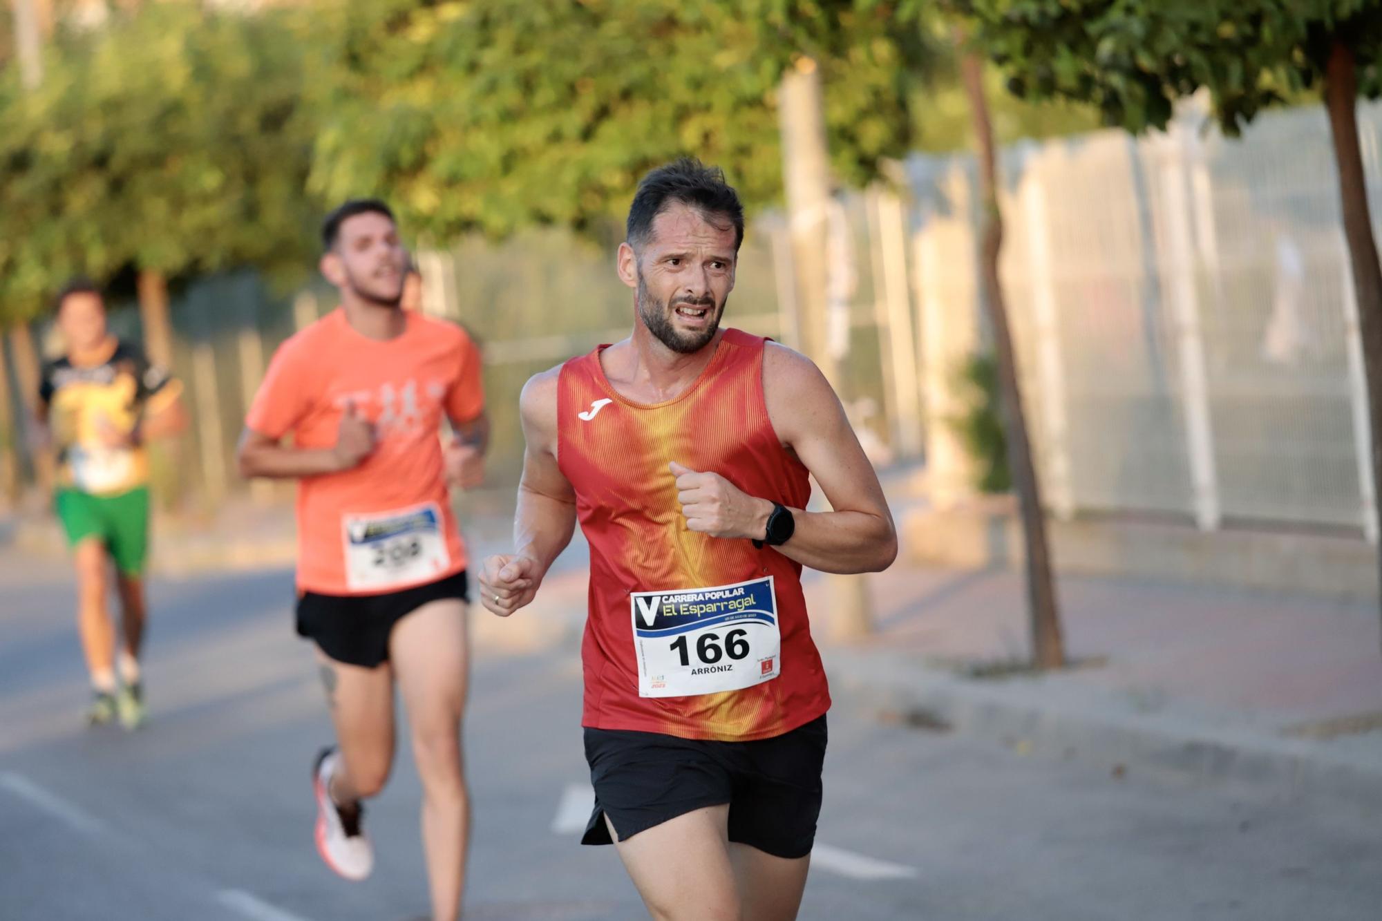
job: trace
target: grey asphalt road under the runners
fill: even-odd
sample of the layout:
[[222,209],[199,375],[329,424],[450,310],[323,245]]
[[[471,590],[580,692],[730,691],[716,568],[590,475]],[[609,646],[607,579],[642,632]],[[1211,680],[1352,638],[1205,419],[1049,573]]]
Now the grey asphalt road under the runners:
[[[62,567],[0,550],[0,918],[402,921],[426,910],[419,790],[399,747],[369,815],[377,868],[312,848],[329,740],[292,633],[290,575],[160,581],[149,723],[88,730]],[[645,917],[589,797],[576,653],[475,651],[467,918]],[[803,918],[1372,921],[1382,823],[1338,808],[1038,759],[831,714]]]

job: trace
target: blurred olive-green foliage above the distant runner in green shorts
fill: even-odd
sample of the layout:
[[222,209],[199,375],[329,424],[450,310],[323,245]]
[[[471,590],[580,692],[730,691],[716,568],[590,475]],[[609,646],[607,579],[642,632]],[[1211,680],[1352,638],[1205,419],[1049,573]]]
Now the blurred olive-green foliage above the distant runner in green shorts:
[[152,4],[0,80],[0,310],[68,277],[300,261],[311,243],[303,65],[279,14]]

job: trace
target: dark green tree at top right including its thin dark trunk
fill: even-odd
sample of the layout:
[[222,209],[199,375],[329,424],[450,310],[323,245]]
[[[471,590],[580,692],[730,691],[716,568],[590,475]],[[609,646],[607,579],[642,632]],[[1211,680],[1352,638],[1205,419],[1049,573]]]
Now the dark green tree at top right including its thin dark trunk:
[[[1238,134],[1263,109],[1317,91],[1329,115],[1343,231],[1367,369],[1374,492],[1382,495],[1382,266],[1357,98],[1382,94],[1375,0],[955,0],[976,47],[1023,98],[1068,98],[1129,131],[1165,127],[1173,102],[1205,90]],[[1382,557],[1379,557],[1382,564]]]

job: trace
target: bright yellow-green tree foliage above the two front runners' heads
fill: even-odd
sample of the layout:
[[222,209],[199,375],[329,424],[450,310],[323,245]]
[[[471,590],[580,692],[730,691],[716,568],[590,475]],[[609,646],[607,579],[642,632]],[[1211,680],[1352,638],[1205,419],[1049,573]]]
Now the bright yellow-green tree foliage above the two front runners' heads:
[[925,71],[893,4],[847,0],[405,0],[344,4],[315,61],[312,188],[383,194],[437,239],[619,216],[681,154],[721,165],[748,205],[779,201],[775,93],[824,68],[835,176],[860,184],[908,149]]

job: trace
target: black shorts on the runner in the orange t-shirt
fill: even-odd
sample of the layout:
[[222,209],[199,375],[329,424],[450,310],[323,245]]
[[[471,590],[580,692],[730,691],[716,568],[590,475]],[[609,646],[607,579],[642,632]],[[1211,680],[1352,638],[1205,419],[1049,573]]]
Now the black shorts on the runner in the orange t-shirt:
[[315,642],[337,662],[375,668],[388,661],[388,635],[394,624],[428,602],[452,597],[470,600],[466,570],[384,595],[304,592],[297,599],[297,635]]

